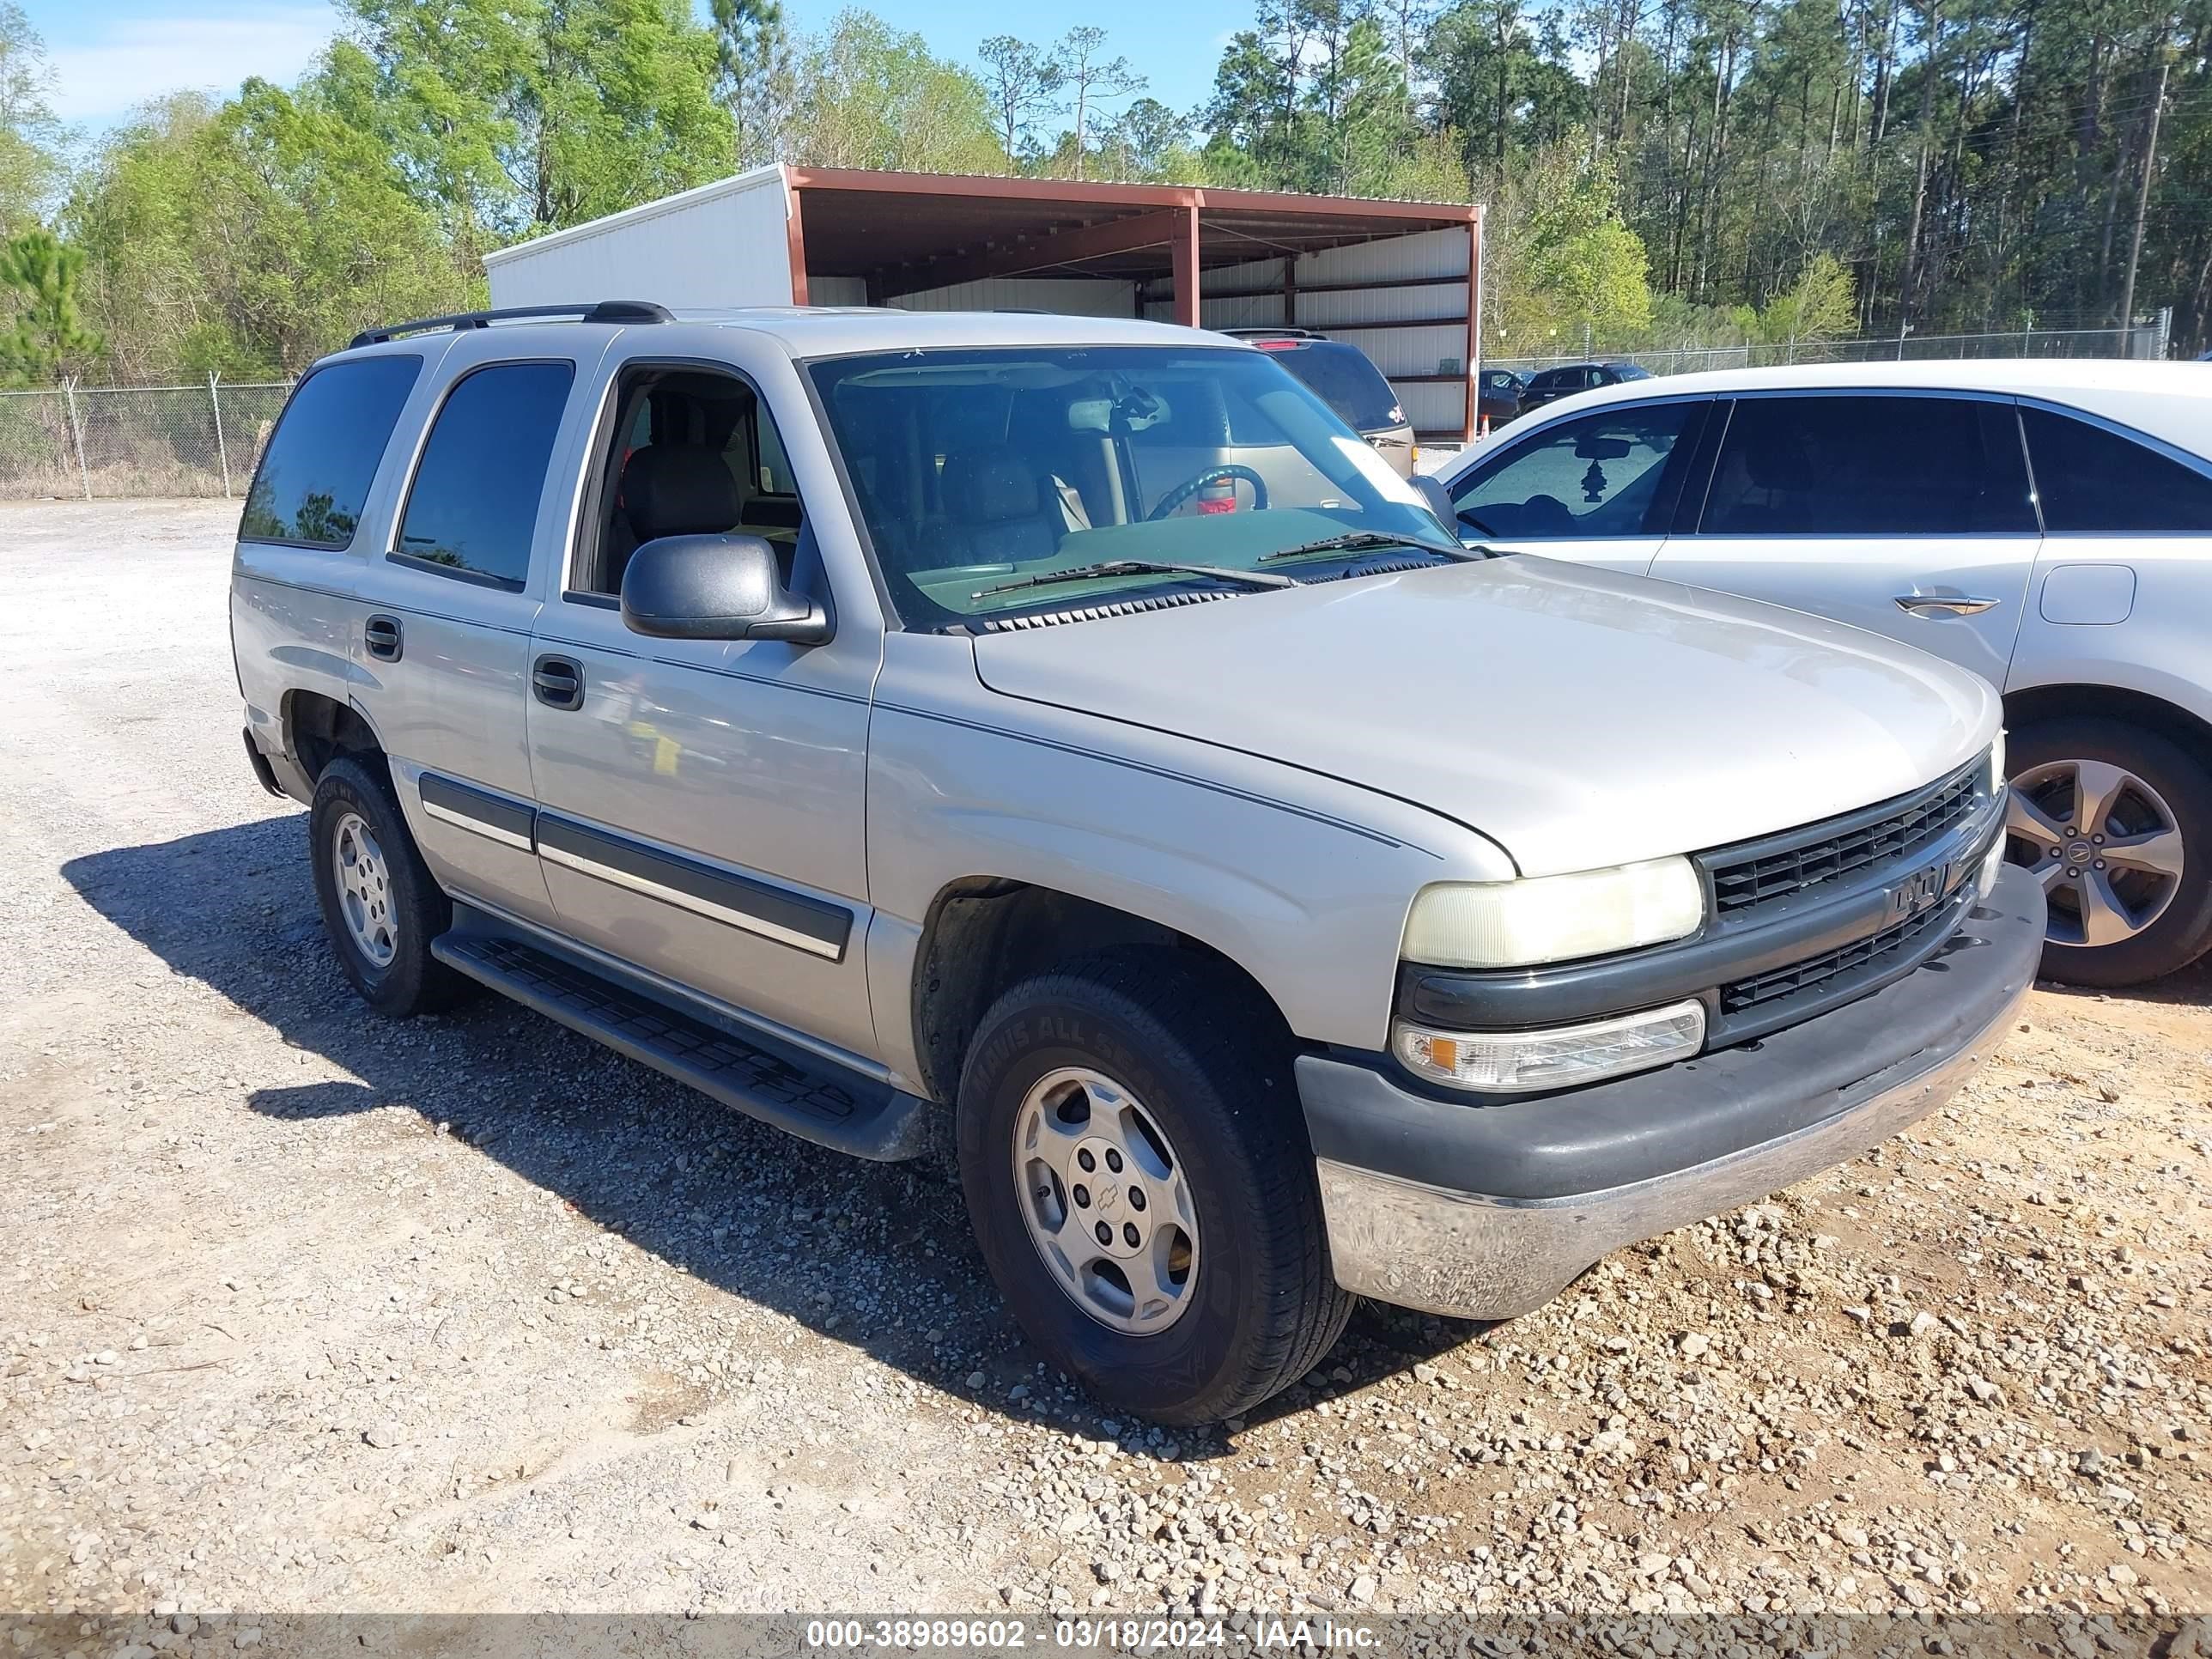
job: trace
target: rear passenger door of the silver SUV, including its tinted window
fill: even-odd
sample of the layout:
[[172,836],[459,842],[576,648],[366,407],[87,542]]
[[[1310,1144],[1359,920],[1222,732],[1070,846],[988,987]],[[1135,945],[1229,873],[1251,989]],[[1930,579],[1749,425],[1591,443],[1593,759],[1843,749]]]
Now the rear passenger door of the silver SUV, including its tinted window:
[[354,635],[356,701],[383,737],[409,827],[440,885],[526,920],[551,898],[531,847],[524,734],[531,624],[566,540],[580,361],[526,352],[535,330],[484,330],[440,363],[436,411],[407,469]]

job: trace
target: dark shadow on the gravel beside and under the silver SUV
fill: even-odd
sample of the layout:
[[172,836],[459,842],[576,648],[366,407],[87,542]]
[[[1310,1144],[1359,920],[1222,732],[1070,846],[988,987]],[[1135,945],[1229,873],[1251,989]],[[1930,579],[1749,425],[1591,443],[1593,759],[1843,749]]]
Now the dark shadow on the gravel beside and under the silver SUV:
[[[445,1015],[378,1020],[323,940],[303,823],[285,814],[62,867],[175,973],[361,1079],[254,1088],[248,1108],[285,1121],[418,1113],[706,1285],[989,1411],[1113,1433],[1013,1327],[945,1159],[865,1164],[807,1146],[489,993]],[[555,1279],[549,1263],[546,1285]],[[1256,1416],[1367,1387],[1478,1329],[1363,1305],[1310,1385]],[[1135,1440],[1135,1425],[1117,1431]],[[1144,1444],[1210,1458],[1225,1438],[1152,1431]]]

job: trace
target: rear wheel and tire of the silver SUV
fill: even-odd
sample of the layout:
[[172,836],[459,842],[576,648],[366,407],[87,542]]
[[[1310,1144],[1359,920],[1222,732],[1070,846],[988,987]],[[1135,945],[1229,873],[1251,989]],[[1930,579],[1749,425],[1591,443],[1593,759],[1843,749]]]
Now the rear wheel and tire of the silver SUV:
[[[343,852],[345,843],[354,858]],[[380,757],[343,754],[323,768],[307,812],[307,849],[330,949],[363,1002],[383,1015],[407,1018],[445,1009],[467,993],[469,980],[429,953],[429,942],[453,925],[453,900],[422,865]],[[361,858],[363,852],[372,856]],[[356,920],[349,920],[349,891],[369,900],[356,902]],[[363,931],[374,945],[363,942]]]

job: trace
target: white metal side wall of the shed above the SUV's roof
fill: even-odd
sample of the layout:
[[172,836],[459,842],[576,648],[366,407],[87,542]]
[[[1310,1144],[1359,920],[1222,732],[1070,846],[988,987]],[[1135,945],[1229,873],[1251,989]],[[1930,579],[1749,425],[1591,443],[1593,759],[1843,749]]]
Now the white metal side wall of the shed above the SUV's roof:
[[790,305],[785,212],[783,168],[739,173],[484,254],[491,303]]

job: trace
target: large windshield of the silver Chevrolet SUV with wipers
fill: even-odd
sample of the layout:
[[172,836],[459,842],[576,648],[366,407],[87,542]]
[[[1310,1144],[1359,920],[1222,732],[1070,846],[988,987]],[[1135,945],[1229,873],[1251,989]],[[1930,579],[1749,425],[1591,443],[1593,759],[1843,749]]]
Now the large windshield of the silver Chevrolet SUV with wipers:
[[[1261,562],[1347,533],[1383,546],[1451,540],[1405,480],[1261,352],[920,349],[830,358],[810,376],[909,624],[1292,573],[1296,560]],[[1157,564],[1221,575],[1128,568]],[[1077,566],[1119,568],[1009,588]]]

